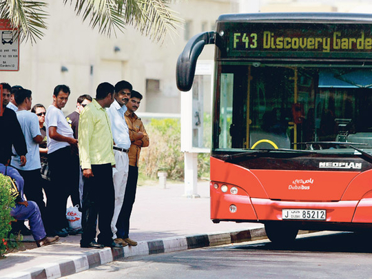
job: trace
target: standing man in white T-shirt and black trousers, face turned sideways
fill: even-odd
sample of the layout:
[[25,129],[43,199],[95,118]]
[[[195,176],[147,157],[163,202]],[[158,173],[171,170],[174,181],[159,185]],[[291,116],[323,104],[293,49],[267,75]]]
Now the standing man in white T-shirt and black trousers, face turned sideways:
[[53,92],[53,104],[45,114],[48,164],[52,182],[47,208],[53,215],[48,229],[49,234],[61,237],[73,234],[65,215],[66,203],[72,187],[79,185],[79,159],[73,156],[78,141],[61,110],[69,96],[68,86],[57,85]]

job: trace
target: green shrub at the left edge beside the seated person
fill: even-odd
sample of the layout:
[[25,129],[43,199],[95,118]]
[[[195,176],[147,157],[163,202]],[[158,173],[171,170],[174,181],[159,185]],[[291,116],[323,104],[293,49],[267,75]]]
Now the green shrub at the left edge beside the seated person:
[[10,222],[13,220],[10,216],[10,210],[14,207],[14,198],[10,195],[10,178],[0,174],[0,257],[12,251],[17,247],[17,242],[10,240],[14,236],[8,238]]

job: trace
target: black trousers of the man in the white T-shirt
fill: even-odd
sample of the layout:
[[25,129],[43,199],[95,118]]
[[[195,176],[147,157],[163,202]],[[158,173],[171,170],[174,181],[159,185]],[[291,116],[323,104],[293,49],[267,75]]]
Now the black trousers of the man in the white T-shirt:
[[48,223],[51,230],[59,231],[68,227],[66,205],[71,189],[79,189],[79,161],[76,161],[70,146],[48,154],[48,160],[52,183],[47,200],[51,216]]

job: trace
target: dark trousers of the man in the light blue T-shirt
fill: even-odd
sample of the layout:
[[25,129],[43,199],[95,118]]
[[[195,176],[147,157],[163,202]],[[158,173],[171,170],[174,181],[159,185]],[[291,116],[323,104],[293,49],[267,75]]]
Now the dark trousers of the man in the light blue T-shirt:
[[28,171],[21,169],[17,170],[23,177],[25,183],[23,186],[23,193],[25,194],[27,200],[32,200],[37,203],[43,223],[46,225],[48,223],[48,216],[46,215],[47,211],[45,210],[45,203],[43,200],[43,178],[41,178],[40,169],[32,169]]

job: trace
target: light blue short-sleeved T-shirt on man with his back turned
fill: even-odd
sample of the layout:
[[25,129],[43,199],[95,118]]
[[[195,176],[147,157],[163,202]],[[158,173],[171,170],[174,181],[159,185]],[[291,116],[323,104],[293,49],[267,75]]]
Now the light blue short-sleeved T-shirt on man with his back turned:
[[26,110],[17,111],[17,118],[23,135],[25,136],[25,142],[27,145],[26,159],[27,163],[24,167],[21,167],[21,158],[17,155],[12,157],[10,163],[13,167],[21,170],[34,170],[40,169],[40,155],[39,155],[39,144],[34,142],[34,137],[40,135],[39,119],[36,114],[28,112]]

